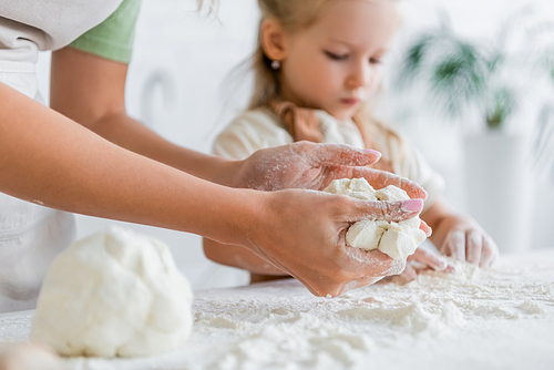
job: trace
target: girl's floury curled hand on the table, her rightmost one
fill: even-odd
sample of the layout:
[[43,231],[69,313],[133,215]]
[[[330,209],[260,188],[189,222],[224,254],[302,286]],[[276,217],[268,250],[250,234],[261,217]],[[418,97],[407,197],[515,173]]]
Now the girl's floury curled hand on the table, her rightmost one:
[[494,240],[469,217],[444,217],[433,228],[431,240],[444,256],[453,256],[480,267],[492,266],[499,257]]

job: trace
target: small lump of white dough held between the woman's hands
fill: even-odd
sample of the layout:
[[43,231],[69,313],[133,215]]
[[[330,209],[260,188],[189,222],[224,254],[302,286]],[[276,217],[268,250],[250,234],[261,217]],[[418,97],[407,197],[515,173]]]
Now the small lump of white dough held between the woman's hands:
[[[335,179],[324,192],[366,201],[394,202],[410,198],[404,191],[393,185],[375,191],[365,178]],[[419,226],[419,217],[400,223],[366,219],[350,226],[346,239],[348,245],[355,248],[379,249],[393,259],[406,259],[425,240],[425,233]]]

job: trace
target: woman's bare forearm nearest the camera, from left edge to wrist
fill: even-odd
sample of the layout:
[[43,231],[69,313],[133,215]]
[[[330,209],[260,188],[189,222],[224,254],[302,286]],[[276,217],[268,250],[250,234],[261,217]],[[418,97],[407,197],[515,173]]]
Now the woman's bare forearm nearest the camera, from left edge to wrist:
[[114,145],[0,84],[0,192],[45,206],[242,244],[259,193]]

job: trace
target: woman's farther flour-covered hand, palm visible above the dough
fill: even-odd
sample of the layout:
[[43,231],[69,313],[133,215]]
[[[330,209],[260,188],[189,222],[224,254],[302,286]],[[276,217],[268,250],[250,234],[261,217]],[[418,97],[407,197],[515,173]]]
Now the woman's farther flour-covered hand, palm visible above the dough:
[[365,167],[380,157],[379,152],[349,145],[297,142],[255,152],[242,162],[232,185],[258,191],[321,191],[334,179],[363,177],[375,188],[396,185],[411,198],[427,198],[427,193],[416,183],[389,172]]

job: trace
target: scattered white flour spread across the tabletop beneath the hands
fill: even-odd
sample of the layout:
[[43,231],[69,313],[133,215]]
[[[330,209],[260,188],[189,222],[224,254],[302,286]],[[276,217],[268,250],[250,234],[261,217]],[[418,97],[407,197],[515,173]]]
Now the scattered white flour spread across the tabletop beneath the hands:
[[[466,330],[495,336],[496,329],[486,329],[489,325],[507,327],[524,318],[554,317],[553,305],[546,304],[554,285],[526,280],[523,270],[511,267],[482,270],[454,259],[450,264],[455,273],[422,270],[408,285],[381,282],[334,300],[300,298],[298,290],[304,288],[294,281],[277,288],[261,285],[254,296],[263,297],[265,290],[283,298],[246,300],[243,307],[252,316],[243,312],[235,315],[236,320],[250,322],[261,308],[270,314],[239,333],[211,369],[365,369],[387,348],[411,348],[421,340],[443,346],[441,338],[462,338],[459,346],[463,346],[461,333]],[[209,315],[229,312],[228,305],[213,300]],[[554,328],[554,321],[548,322]]]

